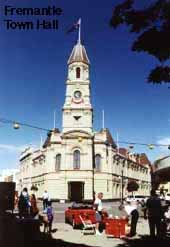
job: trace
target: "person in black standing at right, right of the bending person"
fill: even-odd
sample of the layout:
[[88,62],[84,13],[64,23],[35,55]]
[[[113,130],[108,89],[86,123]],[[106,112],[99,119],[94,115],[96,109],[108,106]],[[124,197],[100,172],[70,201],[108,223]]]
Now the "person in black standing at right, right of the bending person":
[[[161,230],[161,217],[162,217],[162,206],[161,200],[157,196],[155,190],[151,190],[151,196],[146,201],[145,219],[148,217],[150,236],[160,236]],[[156,233],[155,233],[156,230]]]

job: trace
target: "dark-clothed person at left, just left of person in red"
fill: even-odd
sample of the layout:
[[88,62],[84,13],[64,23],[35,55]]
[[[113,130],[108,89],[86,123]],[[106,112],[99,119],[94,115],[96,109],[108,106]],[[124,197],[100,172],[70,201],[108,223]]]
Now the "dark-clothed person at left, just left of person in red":
[[24,188],[18,201],[18,210],[20,218],[28,217],[30,208],[29,194],[27,188]]

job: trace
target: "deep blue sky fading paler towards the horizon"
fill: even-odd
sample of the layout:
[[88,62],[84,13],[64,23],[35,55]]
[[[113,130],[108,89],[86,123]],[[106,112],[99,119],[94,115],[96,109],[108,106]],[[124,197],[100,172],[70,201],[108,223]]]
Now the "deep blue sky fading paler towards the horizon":
[[[167,85],[146,83],[149,71],[158,61],[130,50],[135,35],[126,27],[109,26],[113,7],[120,0],[4,0],[0,7],[0,118],[43,128],[61,129],[67,77],[67,60],[77,40],[77,32],[66,30],[80,17],[82,43],[91,62],[90,80],[94,108],[94,130],[105,127],[119,141],[170,144],[170,89]],[[146,6],[147,0],[141,1]],[[152,1],[154,2],[154,1]],[[7,30],[4,6],[63,9],[58,30]],[[16,17],[15,21],[39,17]],[[50,19],[49,17],[40,18]],[[0,122],[0,169],[17,168],[21,151],[39,147],[46,132]],[[121,145],[128,147],[127,145]],[[133,152],[145,152],[151,161],[170,151],[136,145]]]

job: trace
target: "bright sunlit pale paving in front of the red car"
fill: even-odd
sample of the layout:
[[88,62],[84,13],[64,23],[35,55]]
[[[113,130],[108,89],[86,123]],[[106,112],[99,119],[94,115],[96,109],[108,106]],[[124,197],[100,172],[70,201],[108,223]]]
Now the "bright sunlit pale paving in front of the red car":
[[[80,244],[86,246],[98,246],[98,247],[114,247],[119,244],[123,244],[123,239],[107,238],[105,232],[101,236],[95,235],[83,235],[81,230],[74,230],[72,226],[65,223],[54,223],[53,229],[56,232],[52,234],[54,239],[60,239],[68,244]],[[144,219],[140,219],[137,226],[137,232],[139,235],[133,239],[139,239],[140,235],[146,235],[149,233],[148,222]]]

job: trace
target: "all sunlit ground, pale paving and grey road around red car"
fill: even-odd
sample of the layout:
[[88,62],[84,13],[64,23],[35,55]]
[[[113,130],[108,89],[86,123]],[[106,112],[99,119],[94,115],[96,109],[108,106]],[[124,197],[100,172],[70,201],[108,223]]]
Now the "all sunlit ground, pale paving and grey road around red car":
[[[42,210],[42,202],[39,202],[39,208]],[[107,210],[109,214],[115,215],[118,210],[118,206],[120,202],[105,202],[103,203],[103,207]],[[71,203],[56,203],[53,202],[53,209],[54,209],[54,222],[53,222],[53,230],[52,237],[64,241],[67,243],[66,245],[62,246],[71,246],[75,245],[87,245],[87,246],[105,246],[105,247],[113,247],[117,246],[118,244],[123,244],[123,239],[117,238],[108,238],[105,235],[105,232],[102,233],[101,236],[95,235],[83,235],[80,229],[73,229],[71,225],[65,224],[64,212]],[[42,228],[43,230],[43,228]],[[135,236],[133,239],[140,239],[141,235],[145,236],[149,234],[149,227],[148,222],[143,218],[140,218],[138,221],[137,226],[138,235]]]

